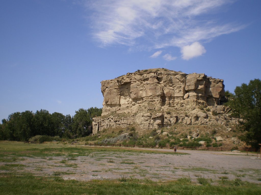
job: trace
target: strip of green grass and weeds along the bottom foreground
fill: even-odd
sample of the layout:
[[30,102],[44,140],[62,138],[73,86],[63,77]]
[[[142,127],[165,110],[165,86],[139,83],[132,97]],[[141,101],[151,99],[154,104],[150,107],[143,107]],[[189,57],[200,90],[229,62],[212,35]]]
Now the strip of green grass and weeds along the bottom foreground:
[[[93,177],[98,176],[93,174]],[[205,178],[204,178],[205,179]],[[208,183],[209,181],[207,181]],[[176,181],[154,182],[148,179],[127,178],[117,180],[64,180],[59,176],[33,176],[20,172],[2,173],[0,175],[0,194],[259,194],[260,184],[243,183],[240,179],[227,180],[216,185],[197,185],[190,178]],[[33,186],[33,187],[32,187]],[[48,187],[46,187],[48,186]],[[4,192],[4,193],[3,193]]]

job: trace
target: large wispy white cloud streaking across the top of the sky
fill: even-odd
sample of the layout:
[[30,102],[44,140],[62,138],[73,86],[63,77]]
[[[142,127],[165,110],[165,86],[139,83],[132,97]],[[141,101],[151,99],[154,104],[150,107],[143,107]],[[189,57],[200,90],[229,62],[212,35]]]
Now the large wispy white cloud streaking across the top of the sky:
[[122,44],[150,50],[183,48],[244,28],[210,19],[212,12],[234,1],[86,0],[85,6],[91,12],[92,35],[100,46]]

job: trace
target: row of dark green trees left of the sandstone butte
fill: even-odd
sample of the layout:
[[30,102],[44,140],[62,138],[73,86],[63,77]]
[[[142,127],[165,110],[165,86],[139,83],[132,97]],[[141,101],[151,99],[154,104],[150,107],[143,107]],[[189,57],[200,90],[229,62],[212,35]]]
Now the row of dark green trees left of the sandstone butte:
[[48,110],[35,113],[26,110],[15,112],[2,120],[0,140],[28,141],[35,135],[59,136],[60,138],[79,138],[92,133],[92,118],[100,116],[102,108],[80,108],[74,116]]

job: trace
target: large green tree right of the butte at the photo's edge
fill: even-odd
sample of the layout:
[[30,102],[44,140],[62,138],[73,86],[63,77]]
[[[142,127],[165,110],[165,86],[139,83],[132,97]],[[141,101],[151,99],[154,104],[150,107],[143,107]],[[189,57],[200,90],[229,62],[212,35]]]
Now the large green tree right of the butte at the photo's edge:
[[243,83],[236,87],[234,97],[228,102],[235,114],[243,119],[241,130],[244,135],[242,141],[252,147],[258,147],[261,143],[261,81],[254,79],[249,84]]

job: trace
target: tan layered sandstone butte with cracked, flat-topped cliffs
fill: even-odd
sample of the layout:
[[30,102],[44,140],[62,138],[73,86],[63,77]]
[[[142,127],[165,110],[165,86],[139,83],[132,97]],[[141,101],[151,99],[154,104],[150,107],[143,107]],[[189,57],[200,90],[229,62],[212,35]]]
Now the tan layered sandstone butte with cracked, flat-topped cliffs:
[[227,114],[230,109],[222,105],[226,101],[223,80],[205,74],[159,68],[127,73],[101,84],[102,116],[93,118],[93,134],[118,126],[155,129],[177,122],[187,125],[237,122]]

